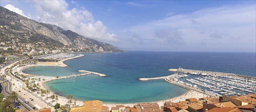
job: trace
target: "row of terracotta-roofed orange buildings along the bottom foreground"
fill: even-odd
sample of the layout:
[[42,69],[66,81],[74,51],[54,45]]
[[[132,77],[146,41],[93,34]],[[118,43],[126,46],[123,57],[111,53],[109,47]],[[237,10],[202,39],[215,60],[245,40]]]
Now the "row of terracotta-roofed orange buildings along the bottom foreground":
[[82,111],[112,111],[112,112],[160,112],[160,111],[256,111],[256,94],[245,96],[220,96],[204,97],[201,99],[188,98],[185,101],[164,102],[164,106],[159,107],[157,103],[139,103],[133,106],[116,105],[109,108],[103,106],[99,100],[84,101],[83,106],[71,107],[72,112]]

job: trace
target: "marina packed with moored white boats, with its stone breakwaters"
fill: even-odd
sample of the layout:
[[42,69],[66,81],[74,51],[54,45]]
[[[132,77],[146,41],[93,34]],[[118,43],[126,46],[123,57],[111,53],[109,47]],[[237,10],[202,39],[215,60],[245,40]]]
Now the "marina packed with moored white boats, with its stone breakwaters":
[[196,90],[209,96],[242,96],[256,93],[256,77],[244,75],[199,71],[188,69],[169,69],[173,75],[139,78],[139,80],[165,79],[186,89]]

